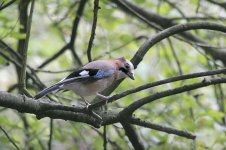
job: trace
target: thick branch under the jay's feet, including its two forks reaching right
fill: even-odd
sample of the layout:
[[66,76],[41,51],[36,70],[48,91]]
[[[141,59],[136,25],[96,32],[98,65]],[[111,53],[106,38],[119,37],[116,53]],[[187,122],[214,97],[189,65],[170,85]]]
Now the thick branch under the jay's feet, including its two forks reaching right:
[[[132,124],[153,128],[153,129],[160,130],[167,133],[174,133],[176,135],[184,136],[192,139],[192,138],[195,138],[194,135],[186,134],[184,132],[178,132],[176,130],[170,130],[167,128],[162,129],[159,126],[152,126],[152,124],[147,122],[139,121],[136,119],[134,120],[133,118],[131,120],[130,118],[128,118],[128,116],[131,116],[131,114],[136,109],[154,100],[157,100],[166,96],[182,93],[185,91],[190,91],[190,90],[198,89],[201,87],[220,84],[220,83],[226,83],[226,78],[216,78],[208,81],[203,80],[200,83],[194,83],[194,84],[174,88],[171,90],[158,92],[153,95],[142,98],[140,100],[137,100],[136,102],[132,103],[131,105],[129,105],[127,108],[123,109],[120,112],[111,112],[111,111],[101,112],[100,116],[103,118],[102,120],[103,122],[98,122],[98,120],[90,116],[87,113],[87,111],[85,111],[83,108],[69,107],[69,106],[59,105],[56,103],[46,103],[44,101],[35,101],[26,96],[9,94],[7,92],[0,92],[0,105],[3,107],[16,109],[22,113],[25,112],[25,113],[35,114],[38,119],[41,119],[43,117],[50,117],[53,119],[71,120],[76,122],[87,123],[94,127],[100,127],[101,125],[109,125],[122,120],[124,121],[128,120]],[[127,127],[127,125],[125,125],[125,127]]]

